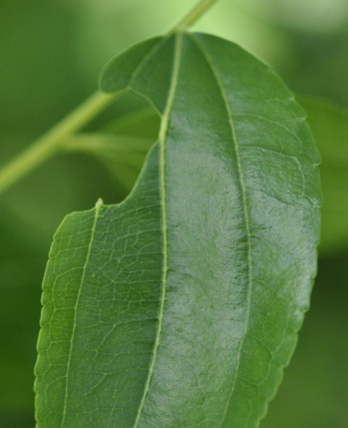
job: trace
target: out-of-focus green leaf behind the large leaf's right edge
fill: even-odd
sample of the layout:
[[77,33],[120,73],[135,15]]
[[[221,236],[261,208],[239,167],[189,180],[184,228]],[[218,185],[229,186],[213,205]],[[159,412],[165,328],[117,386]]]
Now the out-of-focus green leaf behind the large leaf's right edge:
[[322,154],[324,194],[320,252],[348,246],[348,110],[330,101],[299,97]]

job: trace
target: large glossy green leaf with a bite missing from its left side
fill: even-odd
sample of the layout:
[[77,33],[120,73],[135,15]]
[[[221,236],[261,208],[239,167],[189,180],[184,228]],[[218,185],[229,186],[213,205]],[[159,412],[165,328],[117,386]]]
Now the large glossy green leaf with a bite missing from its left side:
[[269,67],[203,34],[138,44],[101,85],[147,97],[159,141],[122,204],[56,232],[38,427],[257,427],[316,273],[304,112]]

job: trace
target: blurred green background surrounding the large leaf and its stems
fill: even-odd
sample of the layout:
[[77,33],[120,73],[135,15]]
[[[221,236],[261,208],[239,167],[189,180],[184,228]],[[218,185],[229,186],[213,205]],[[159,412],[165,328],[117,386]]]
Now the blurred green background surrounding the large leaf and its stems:
[[[1,163],[94,92],[109,58],[164,33],[195,4],[0,0]],[[342,106],[348,106],[348,1],[220,0],[196,28],[242,44],[283,76],[308,111],[323,157],[312,308],[261,427],[347,428],[348,110]],[[88,131],[143,106],[123,97]],[[148,141],[156,127],[152,120],[149,129],[142,124],[141,132],[129,131],[125,122],[116,129],[127,138],[139,132]],[[122,181],[104,164],[88,153],[62,154],[0,195],[1,428],[34,426],[40,284],[56,227],[65,214],[92,207],[98,197],[108,204],[122,200],[134,181],[136,162]]]

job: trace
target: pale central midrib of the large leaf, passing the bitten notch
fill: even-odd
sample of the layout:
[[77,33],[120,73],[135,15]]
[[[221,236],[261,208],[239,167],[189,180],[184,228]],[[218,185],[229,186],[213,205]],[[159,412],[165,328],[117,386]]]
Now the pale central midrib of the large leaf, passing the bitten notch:
[[162,319],[164,315],[164,302],[166,300],[166,278],[167,278],[167,263],[168,263],[168,254],[167,254],[167,226],[166,226],[166,134],[168,131],[168,123],[171,116],[171,108],[173,106],[173,99],[175,96],[175,90],[177,87],[177,78],[179,75],[180,69],[180,57],[182,51],[182,33],[175,34],[175,49],[174,49],[174,61],[173,61],[173,74],[171,77],[171,84],[168,92],[168,98],[166,102],[166,108],[161,117],[161,126],[159,129],[159,185],[160,185],[160,194],[161,194],[161,231],[162,231],[162,252],[163,252],[163,265],[162,265],[162,279],[161,279],[161,300],[159,304],[159,315],[158,315],[158,324],[157,324],[157,334],[155,338],[155,344],[152,350],[152,359],[150,362],[148,377],[145,381],[145,387],[143,396],[141,397],[141,402],[139,404],[139,409],[136,414],[136,419],[134,420],[133,428],[137,428],[141,418],[141,413],[144,408],[145,399],[148,395],[150,389],[150,382],[154,372],[155,361],[157,357],[157,351],[159,348],[160,336],[161,336],[161,326]]

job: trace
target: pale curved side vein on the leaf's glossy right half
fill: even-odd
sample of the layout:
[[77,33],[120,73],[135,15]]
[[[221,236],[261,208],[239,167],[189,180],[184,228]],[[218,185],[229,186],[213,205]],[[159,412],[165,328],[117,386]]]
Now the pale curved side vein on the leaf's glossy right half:
[[239,363],[240,363],[240,357],[241,357],[241,353],[242,353],[242,347],[243,347],[244,340],[246,337],[246,333],[247,333],[247,329],[248,329],[248,321],[250,318],[251,289],[252,289],[252,284],[253,284],[253,270],[252,270],[253,261],[252,261],[252,256],[251,256],[251,232],[250,232],[250,225],[249,225],[248,208],[246,206],[246,191],[245,191],[245,185],[244,185],[244,174],[243,174],[242,163],[241,163],[240,155],[239,155],[239,145],[238,145],[238,140],[237,140],[237,132],[236,132],[235,124],[233,121],[232,110],[230,108],[230,104],[228,103],[228,97],[226,95],[225,88],[223,88],[223,83],[222,83],[221,78],[219,76],[219,72],[216,69],[216,66],[214,65],[214,61],[212,60],[212,57],[207,52],[207,49],[205,49],[203,44],[196,37],[194,37],[191,34],[189,34],[189,37],[196,44],[196,46],[198,47],[198,49],[202,53],[203,57],[207,61],[209,68],[212,70],[212,74],[214,75],[214,78],[216,79],[216,84],[218,85],[218,88],[221,92],[221,97],[223,99],[223,103],[225,104],[225,107],[226,107],[226,113],[228,114],[228,120],[230,123],[230,130],[231,130],[231,134],[232,134],[232,141],[235,144],[235,153],[236,153],[236,157],[237,157],[237,172],[238,172],[240,187],[241,187],[241,192],[242,192],[244,219],[245,219],[245,225],[246,225],[246,235],[248,237],[248,295],[247,295],[247,303],[246,303],[246,316],[245,316],[245,321],[244,321],[243,334],[239,340],[239,345],[238,345],[238,350],[237,350],[237,363],[236,363],[236,368],[235,368],[235,375],[232,379],[232,385],[230,388],[230,393],[228,395],[228,400],[226,401],[226,406],[224,408],[223,415],[222,415],[221,421],[219,422],[219,426],[218,426],[218,428],[221,428],[223,422],[226,419],[228,406],[230,404],[232,394],[235,390],[235,382],[237,380],[237,375],[238,375],[238,371],[239,371]]

